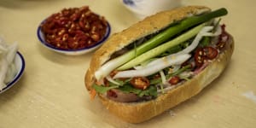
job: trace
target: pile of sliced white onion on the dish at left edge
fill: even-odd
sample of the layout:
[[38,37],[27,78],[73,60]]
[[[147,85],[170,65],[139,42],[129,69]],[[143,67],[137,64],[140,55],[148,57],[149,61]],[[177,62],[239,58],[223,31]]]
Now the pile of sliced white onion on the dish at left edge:
[[17,73],[14,64],[17,50],[17,43],[8,45],[0,38],[0,90],[3,90]]

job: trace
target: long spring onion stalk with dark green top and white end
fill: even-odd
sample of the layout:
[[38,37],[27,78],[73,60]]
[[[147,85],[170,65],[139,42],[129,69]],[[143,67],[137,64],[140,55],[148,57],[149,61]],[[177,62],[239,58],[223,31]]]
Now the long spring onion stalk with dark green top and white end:
[[121,55],[111,61],[105,63],[102,67],[100,67],[96,73],[95,77],[97,80],[100,80],[111,73],[115,68],[120,67],[121,65],[125,64],[127,61],[131,61],[137,55],[141,55],[144,52],[148,51],[148,49],[152,49],[155,46],[166,42],[169,38],[177,35],[184,30],[187,30],[191,26],[196,26],[198,24],[204,23],[208,20],[213,18],[227,15],[228,11],[224,8],[218,9],[207,14],[199,15],[199,16],[192,16],[185,20],[180,21],[175,26],[170,26],[164,32],[160,32],[154,38],[149,39],[147,42],[143,43],[140,46],[137,46],[137,49],[132,49],[131,51]]

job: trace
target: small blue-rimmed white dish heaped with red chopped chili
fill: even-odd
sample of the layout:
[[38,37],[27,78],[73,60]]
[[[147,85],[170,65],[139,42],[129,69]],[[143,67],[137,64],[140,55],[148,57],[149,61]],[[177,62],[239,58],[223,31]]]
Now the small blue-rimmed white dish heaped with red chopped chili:
[[111,31],[108,21],[88,6],[62,9],[38,26],[38,39],[46,48],[65,55],[82,55],[101,46]]

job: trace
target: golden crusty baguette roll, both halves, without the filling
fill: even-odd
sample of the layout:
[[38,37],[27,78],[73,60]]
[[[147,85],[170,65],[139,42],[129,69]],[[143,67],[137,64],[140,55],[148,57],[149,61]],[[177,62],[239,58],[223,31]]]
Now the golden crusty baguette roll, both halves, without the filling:
[[[117,51],[125,49],[129,44],[134,43],[140,38],[160,32],[172,23],[193,15],[201,15],[208,12],[211,12],[211,9],[203,6],[188,6],[167,10],[149,16],[124,31],[113,34],[100,49],[96,50],[91,58],[90,67],[84,78],[86,89],[90,92],[94,90],[93,84],[99,82],[99,79],[96,79],[96,72],[111,60],[113,54]],[[218,51],[218,56],[208,61],[207,65],[200,72],[195,73],[192,79],[183,80],[183,82],[175,85],[172,90],[159,93],[156,97],[149,100],[141,100],[133,94],[129,94],[133,97],[131,101],[120,102],[119,100],[113,100],[106,94],[98,93],[102,104],[120,119],[130,123],[140,123],[195,96],[214,79],[217,79],[230,61],[234,50],[234,40],[229,33],[226,32],[226,34],[228,38],[225,40],[224,47]]]

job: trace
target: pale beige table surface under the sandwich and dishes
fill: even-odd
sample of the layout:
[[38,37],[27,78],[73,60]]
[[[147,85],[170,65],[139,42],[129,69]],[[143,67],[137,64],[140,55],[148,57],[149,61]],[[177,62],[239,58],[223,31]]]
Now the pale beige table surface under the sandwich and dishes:
[[0,95],[0,128],[256,127],[256,27],[254,0],[184,0],[183,5],[226,7],[223,18],[236,40],[229,67],[200,95],[142,124],[125,123],[90,101],[84,72],[90,56],[67,56],[38,41],[41,20],[65,7],[89,5],[104,15],[112,34],[138,19],[119,0],[1,0],[0,35],[17,41],[26,60],[20,81]]

